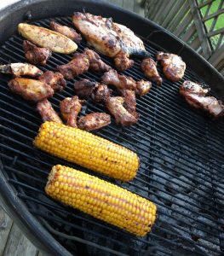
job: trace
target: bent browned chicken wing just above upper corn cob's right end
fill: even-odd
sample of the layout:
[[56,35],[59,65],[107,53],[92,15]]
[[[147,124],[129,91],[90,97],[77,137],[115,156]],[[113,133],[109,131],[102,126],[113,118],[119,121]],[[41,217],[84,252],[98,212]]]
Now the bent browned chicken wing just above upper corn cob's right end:
[[124,99],[123,97],[108,97],[106,99],[106,108],[112,113],[116,119],[117,124],[124,126],[133,125],[137,122],[137,118],[128,112],[126,108],[123,107]]

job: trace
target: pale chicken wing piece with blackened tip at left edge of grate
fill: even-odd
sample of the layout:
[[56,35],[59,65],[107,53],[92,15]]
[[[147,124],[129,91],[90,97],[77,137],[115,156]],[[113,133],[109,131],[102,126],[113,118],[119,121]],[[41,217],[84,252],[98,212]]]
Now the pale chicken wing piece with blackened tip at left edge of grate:
[[11,63],[0,66],[0,73],[9,73],[14,77],[29,76],[37,77],[43,74],[43,71],[29,63]]

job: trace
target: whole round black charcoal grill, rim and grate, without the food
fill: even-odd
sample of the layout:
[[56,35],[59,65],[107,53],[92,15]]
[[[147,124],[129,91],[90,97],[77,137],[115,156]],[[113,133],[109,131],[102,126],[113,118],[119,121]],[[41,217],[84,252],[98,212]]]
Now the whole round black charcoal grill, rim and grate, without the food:
[[[91,218],[52,201],[43,188],[51,166],[65,164],[84,172],[80,166],[33,148],[41,119],[35,105],[9,92],[9,77],[0,75],[1,172],[0,195],[16,224],[34,244],[53,255],[223,255],[224,253],[224,122],[195,113],[178,94],[185,79],[210,84],[211,94],[224,98],[224,79],[186,44],[160,26],[100,1],[21,1],[0,14],[0,61],[25,61],[22,38],[16,32],[20,21],[49,26],[54,17],[72,26],[73,11],[86,11],[112,18],[137,33],[154,58],[158,50],[174,52],[187,62],[187,71],[178,83],[164,79],[161,87],[152,83],[147,96],[137,100],[141,117],[136,125],[112,125],[95,132],[112,142],[134,150],[141,168],[130,183],[112,183],[155,202],[158,219],[144,238]],[[78,45],[81,52],[86,43]],[[106,63],[112,61],[101,56]],[[45,70],[71,60],[72,55],[53,54]],[[142,79],[140,61],[124,72]],[[161,68],[158,66],[160,74]],[[100,81],[95,73],[80,78]],[[75,80],[74,80],[75,81]],[[58,110],[65,96],[72,96],[72,84],[50,99]],[[103,111],[102,105],[87,103],[83,114]],[[99,175],[100,176],[100,175]]]

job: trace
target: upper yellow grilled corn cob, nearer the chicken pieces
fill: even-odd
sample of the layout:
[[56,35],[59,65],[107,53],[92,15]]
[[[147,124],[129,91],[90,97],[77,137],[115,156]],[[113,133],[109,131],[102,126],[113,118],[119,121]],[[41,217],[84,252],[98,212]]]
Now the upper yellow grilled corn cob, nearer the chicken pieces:
[[137,154],[88,131],[45,122],[34,145],[49,154],[122,181],[133,179],[139,168]]

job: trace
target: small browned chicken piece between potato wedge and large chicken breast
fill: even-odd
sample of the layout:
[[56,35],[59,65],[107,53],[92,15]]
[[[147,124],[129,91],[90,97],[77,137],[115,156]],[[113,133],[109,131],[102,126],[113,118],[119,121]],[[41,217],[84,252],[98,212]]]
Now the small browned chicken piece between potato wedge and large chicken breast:
[[55,21],[50,21],[49,27],[55,32],[59,32],[60,34],[66,36],[67,38],[72,39],[76,43],[80,43],[82,41],[81,35],[78,34],[78,32],[76,32],[72,27],[62,26]]

